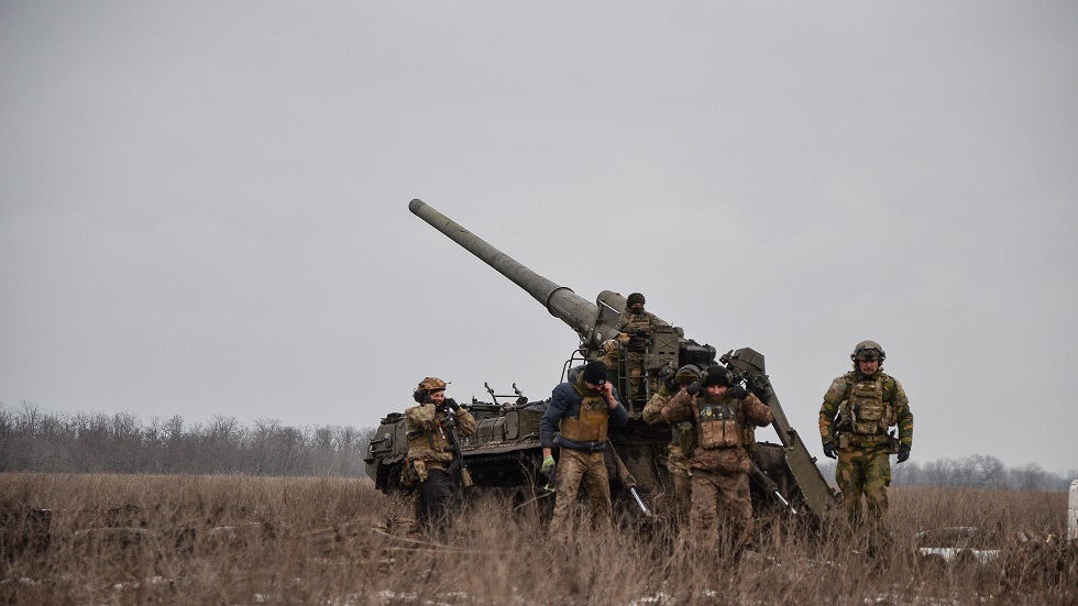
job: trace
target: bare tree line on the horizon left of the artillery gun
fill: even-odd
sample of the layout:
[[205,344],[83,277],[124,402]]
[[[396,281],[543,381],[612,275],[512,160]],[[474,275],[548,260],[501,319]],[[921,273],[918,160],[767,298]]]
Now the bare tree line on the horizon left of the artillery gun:
[[142,423],[130,412],[57,415],[0,403],[0,472],[364,476],[374,428],[241,426],[216,416]]

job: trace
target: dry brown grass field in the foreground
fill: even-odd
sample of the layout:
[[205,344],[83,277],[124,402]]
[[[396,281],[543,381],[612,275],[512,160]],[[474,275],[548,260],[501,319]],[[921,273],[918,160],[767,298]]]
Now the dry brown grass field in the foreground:
[[[897,488],[893,554],[866,562],[838,533],[767,525],[739,564],[689,552],[667,528],[543,539],[535,515],[470,504],[454,547],[387,520],[405,498],[365,480],[0,475],[3,604],[1075,604],[1074,560],[1009,541],[987,566],[920,565],[921,529],[977,526],[1060,535],[1066,494]],[[24,544],[26,506],[52,509],[48,543]],[[10,514],[20,513],[19,515]],[[19,530],[22,529],[22,530]],[[1069,565],[1068,570],[1066,565]]]

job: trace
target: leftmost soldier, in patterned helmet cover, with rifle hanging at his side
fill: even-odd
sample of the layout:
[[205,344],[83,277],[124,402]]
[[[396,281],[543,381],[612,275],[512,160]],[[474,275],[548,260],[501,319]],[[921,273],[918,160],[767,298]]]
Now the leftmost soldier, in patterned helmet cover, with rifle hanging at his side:
[[449,538],[453,508],[460,499],[460,483],[449,473],[455,456],[449,437],[455,425],[461,436],[475,433],[475,418],[446,397],[446,382],[427,377],[413,394],[419,403],[405,410],[405,432],[408,436],[406,473],[418,482],[416,503],[418,527],[437,530],[442,540]]

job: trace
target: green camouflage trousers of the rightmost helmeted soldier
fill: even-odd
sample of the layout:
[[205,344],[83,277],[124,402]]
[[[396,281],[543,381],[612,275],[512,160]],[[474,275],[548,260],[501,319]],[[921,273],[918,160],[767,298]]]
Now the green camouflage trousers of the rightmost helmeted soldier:
[[[887,533],[887,487],[891,485],[891,459],[888,444],[851,447],[838,451],[835,482],[843,492],[843,507],[850,529],[865,532],[870,549],[880,547]],[[865,505],[861,497],[865,497]],[[868,508],[866,519],[865,507]]]

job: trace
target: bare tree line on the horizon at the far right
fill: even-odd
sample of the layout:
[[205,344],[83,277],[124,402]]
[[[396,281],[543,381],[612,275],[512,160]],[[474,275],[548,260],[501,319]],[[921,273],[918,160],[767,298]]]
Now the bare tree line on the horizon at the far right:
[[[834,482],[835,463],[820,464],[824,477]],[[1066,475],[1045,471],[1036,463],[1008,467],[1002,461],[986,454],[961,459],[939,459],[927,463],[908,461],[891,465],[892,486],[963,486],[969,488],[1015,488],[1025,491],[1065,491],[1078,470]]]

